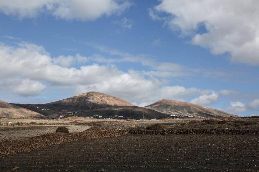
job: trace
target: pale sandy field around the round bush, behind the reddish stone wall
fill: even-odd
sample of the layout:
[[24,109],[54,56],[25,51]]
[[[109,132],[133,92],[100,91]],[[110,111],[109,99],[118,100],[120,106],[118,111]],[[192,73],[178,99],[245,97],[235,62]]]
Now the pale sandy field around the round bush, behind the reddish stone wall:
[[[66,126],[70,133],[82,132],[89,126],[62,125]],[[1,126],[0,140],[26,140],[27,138],[56,132],[56,125],[46,126]]]

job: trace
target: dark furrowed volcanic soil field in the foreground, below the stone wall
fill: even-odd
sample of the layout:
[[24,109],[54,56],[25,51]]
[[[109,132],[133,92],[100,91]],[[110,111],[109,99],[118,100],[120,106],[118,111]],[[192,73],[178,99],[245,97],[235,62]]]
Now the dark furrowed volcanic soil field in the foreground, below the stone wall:
[[131,134],[90,138],[0,159],[0,171],[258,171],[259,136]]

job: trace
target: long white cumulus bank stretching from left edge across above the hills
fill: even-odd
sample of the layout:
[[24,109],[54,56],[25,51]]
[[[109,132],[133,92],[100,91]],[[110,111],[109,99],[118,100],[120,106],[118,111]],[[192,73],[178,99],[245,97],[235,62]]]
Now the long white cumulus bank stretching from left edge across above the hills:
[[[136,104],[141,106],[161,99],[189,101],[193,96],[209,95],[208,99],[213,101],[215,97],[214,90],[166,86],[167,81],[155,77],[155,74],[148,77],[143,71],[119,70],[112,64],[114,59],[111,59],[111,63],[99,65],[96,64],[98,60],[95,56],[76,54],[51,58],[44,47],[26,42],[14,45],[0,43],[0,60],[0,91],[5,92],[8,89],[23,96],[39,94],[45,88],[69,88],[74,91],[73,94],[98,91],[129,102],[137,100],[139,102]],[[89,61],[94,63],[89,64]],[[74,68],[71,63],[80,65]],[[172,73],[182,68],[174,63],[143,63],[150,64],[154,72],[163,72],[164,69]]]

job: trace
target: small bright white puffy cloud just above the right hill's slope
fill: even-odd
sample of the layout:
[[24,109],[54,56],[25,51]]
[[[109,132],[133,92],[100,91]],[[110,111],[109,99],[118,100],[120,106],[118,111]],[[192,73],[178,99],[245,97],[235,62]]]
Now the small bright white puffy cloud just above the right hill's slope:
[[208,105],[217,102],[218,98],[219,95],[213,92],[210,95],[201,95],[195,99],[192,99],[191,103]]

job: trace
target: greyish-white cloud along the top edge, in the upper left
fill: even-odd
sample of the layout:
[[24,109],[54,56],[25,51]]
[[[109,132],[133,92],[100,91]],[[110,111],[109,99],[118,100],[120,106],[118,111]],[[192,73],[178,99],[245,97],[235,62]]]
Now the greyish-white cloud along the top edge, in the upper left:
[[0,11],[19,18],[33,18],[46,12],[62,19],[95,20],[103,15],[121,13],[130,7],[128,1],[116,0],[8,0],[0,1]]

